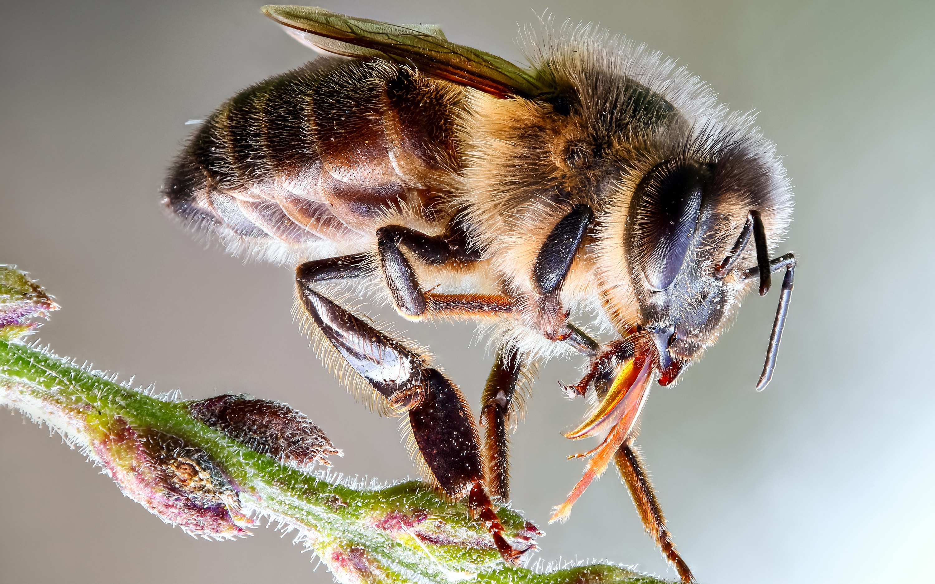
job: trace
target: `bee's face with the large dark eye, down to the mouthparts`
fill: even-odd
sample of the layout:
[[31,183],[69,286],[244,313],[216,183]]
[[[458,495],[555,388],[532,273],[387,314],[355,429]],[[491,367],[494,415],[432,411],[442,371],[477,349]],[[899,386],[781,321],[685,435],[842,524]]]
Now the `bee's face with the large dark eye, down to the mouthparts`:
[[[626,256],[660,370],[692,361],[721,332],[742,285],[718,278],[736,237],[741,206],[730,201],[716,164],[671,159],[656,164],[630,200]],[[742,224],[742,215],[739,224]]]

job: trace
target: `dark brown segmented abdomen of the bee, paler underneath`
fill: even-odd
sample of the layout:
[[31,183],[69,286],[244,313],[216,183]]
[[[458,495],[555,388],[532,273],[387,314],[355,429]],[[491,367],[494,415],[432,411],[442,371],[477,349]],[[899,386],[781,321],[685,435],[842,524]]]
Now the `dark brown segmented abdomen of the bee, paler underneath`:
[[281,261],[368,240],[387,215],[434,217],[457,170],[462,91],[395,64],[312,62],[211,114],[164,204]]

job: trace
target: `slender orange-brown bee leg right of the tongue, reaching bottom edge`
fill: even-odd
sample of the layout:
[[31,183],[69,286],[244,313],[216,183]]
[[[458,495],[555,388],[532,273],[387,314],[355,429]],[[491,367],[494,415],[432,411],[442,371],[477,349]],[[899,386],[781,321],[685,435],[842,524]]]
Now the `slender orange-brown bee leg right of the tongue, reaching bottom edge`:
[[662,515],[662,507],[655,498],[653,485],[649,482],[646,475],[646,469],[643,466],[640,450],[637,449],[632,441],[626,441],[617,449],[613,457],[613,462],[617,465],[620,477],[624,479],[626,488],[630,491],[633,498],[633,504],[637,507],[640,514],[640,520],[646,533],[655,539],[655,543],[662,549],[663,555],[669,562],[675,565],[676,571],[683,582],[694,582],[691,570],[688,564],[684,562],[682,556],[675,549],[672,543],[669,530],[666,529],[666,518]]

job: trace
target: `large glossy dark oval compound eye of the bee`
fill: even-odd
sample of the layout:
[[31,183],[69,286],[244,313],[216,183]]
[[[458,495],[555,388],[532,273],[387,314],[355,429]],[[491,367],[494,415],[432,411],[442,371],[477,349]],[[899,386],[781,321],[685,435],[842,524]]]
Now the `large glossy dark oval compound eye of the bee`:
[[701,211],[702,172],[698,164],[658,164],[633,197],[633,251],[654,290],[669,288],[682,269]]

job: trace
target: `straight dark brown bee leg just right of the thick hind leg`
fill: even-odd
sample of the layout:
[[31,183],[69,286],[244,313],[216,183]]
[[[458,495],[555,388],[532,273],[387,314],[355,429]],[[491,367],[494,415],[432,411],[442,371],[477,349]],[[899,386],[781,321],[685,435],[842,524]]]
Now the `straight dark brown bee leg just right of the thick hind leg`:
[[510,437],[507,426],[515,413],[511,410],[523,363],[516,351],[496,352],[496,362],[481,394],[481,425],[484,429],[484,477],[489,491],[501,502],[510,500]]

